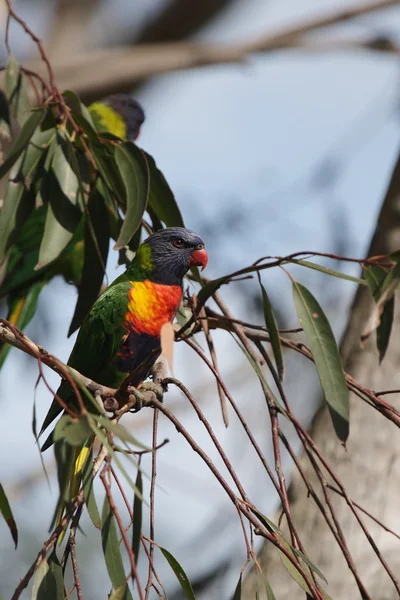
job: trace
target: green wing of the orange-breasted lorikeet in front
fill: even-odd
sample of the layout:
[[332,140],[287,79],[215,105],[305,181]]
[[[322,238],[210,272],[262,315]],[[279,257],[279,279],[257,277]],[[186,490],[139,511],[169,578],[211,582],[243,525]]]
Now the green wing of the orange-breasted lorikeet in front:
[[[125,335],[122,322],[127,311],[128,291],[131,287],[129,281],[118,283],[100,296],[82,323],[68,360],[69,366],[108,387],[119,387],[126,376],[112,361]],[[66,403],[73,400],[73,392],[66,381],[61,383],[57,394]],[[61,412],[62,407],[54,398],[39,435]],[[47,441],[44,449],[46,444]]]

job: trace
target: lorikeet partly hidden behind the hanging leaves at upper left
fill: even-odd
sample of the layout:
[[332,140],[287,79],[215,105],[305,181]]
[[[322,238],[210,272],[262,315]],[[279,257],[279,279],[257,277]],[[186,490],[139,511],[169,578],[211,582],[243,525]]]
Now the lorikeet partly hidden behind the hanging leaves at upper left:
[[[137,139],[144,122],[144,112],[128,94],[108,96],[88,108],[99,133],[111,133],[123,141]],[[32,212],[13,244],[3,281],[0,276],[0,298],[7,296],[7,320],[20,329],[31,321],[40,292],[53,277],[61,275],[67,283],[76,287],[82,277],[83,225],[57,259],[35,271],[45,221],[45,206]],[[0,368],[10,348],[9,344],[0,342]]]

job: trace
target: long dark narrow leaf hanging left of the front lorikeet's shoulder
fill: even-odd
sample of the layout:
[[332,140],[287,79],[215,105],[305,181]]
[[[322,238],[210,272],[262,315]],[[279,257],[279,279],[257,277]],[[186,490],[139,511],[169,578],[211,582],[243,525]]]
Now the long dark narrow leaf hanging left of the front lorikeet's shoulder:
[[81,326],[99,296],[107,264],[109,239],[108,211],[103,198],[94,192],[91,194],[86,212],[81,285],[68,336]]

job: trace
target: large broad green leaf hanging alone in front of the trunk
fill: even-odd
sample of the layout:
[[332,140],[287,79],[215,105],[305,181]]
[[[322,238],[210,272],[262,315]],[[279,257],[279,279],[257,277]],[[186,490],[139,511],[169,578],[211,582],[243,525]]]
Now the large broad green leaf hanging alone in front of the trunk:
[[345,442],[349,435],[349,391],[335,337],[317,300],[297,281],[293,281],[293,299],[310,344],[336,435]]

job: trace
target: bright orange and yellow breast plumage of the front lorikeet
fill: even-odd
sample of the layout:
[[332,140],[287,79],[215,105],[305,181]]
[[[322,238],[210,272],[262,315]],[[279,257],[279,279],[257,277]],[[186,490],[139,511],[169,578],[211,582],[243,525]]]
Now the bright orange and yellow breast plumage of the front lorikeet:
[[162,285],[151,281],[131,283],[124,325],[129,331],[158,337],[161,327],[175,317],[182,289],[179,285]]

